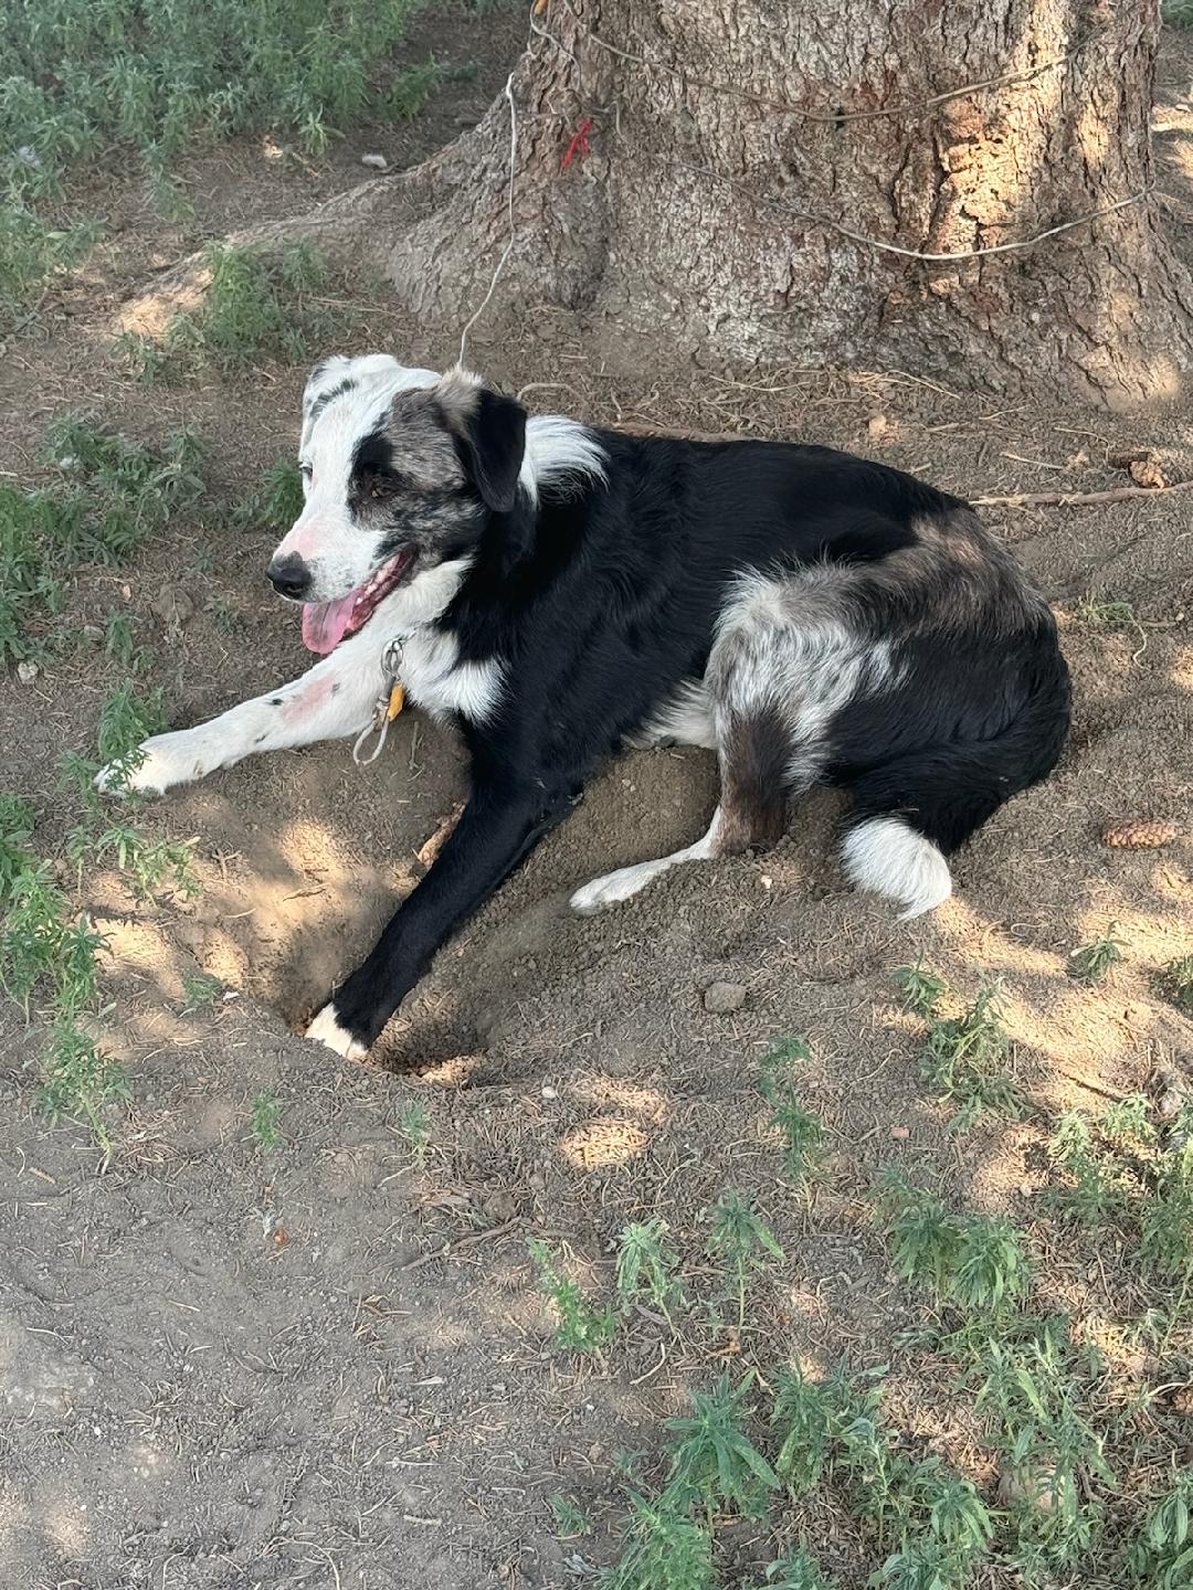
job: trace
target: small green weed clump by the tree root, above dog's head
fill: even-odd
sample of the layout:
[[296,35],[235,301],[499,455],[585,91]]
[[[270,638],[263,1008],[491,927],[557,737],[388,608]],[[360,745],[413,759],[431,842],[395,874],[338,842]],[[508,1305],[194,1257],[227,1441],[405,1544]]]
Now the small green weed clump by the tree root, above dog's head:
[[226,375],[262,358],[297,363],[344,331],[347,313],[320,297],[329,270],[312,243],[210,243],[204,258],[210,281],[202,304],[175,315],[161,343],[122,339],[142,378],[173,378],[204,366]]

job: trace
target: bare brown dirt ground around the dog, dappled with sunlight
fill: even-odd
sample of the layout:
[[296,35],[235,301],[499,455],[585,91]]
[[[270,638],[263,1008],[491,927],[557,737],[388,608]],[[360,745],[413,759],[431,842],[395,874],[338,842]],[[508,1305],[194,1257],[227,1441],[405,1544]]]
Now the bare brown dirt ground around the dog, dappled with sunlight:
[[[428,21],[420,29],[428,29]],[[72,197],[110,218],[83,277],[13,339],[0,369],[5,471],[38,479],[46,418],[86,409],[130,436],[194,426],[208,448],[208,517],[172,528],[127,574],[83,571],[72,614],[127,611],[161,657],[177,725],[304,668],[293,617],[262,577],[269,537],[223,528],[226,506],[294,445],[305,370],[138,386],[113,347],[119,307],[204,235],[307,208],[361,176],[359,154],[417,159],[504,81],[523,19],[434,24],[436,52],[480,59],[399,134],[366,130],[326,162],[264,143],[196,157],[194,226],[162,224],[140,186],[94,178]],[[429,35],[410,41],[425,59]],[[1191,68],[1169,43],[1158,113],[1161,188],[1193,261]],[[353,350],[447,363],[367,283]],[[1094,491],[1126,483],[1110,456],[1156,452],[1193,477],[1193,407],[1134,420],[999,407],[913,375],[697,369],[684,383],[631,374],[609,328],[536,312],[520,343],[472,339],[472,361],[536,409],[659,429],[799,436],[913,469],[964,494]],[[706,1310],[671,1337],[633,1317],[608,1355],[550,1345],[528,1234],[562,1245],[608,1296],[628,1220],[665,1216],[689,1289],[711,1297],[700,1212],[725,1186],[757,1197],[786,1261],[752,1288],[743,1353],[856,1367],[886,1361],[918,1317],[870,1231],[864,1194],[884,1162],[956,1207],[1002,1210],[1031,1232],[1045,1301],[1078,1317],[1137,1309],[1129,1266],[1091,1255],[1045,1218],[1043,1129],[945,1130],[921,1080],[919,1027],[891,970],[923,951],[959,995],[1005,983],[1013,1068],[1043,1105],[1104,1105],[1158,1062],[1193,1072],[1193,1027],[1158,968],[1193,952],[1193,531],[1188,493],[1104,507],[986,510],[1061,615],[1074,671],[1072,741],[1053,779],[1018,798],[956,865],[956,897],[902,925],[849,892],[832,852],[837,803],[818,797],[767,855],[682,868],[595,919],[566,911],[579,882],[703,832],[711,758],[635,754],[437,960],[367,1065],[296,1035],[418,879],[420,846],[463,790],[452,739],[415,714],[385,755],[345,744],[221,773],[153,809],[154,832],[197,836],[204,894],[134,906],[87,884],[113,941],[111,1046],[132,1081],[99,1173],[86,1134],[33,1105],[40,1034],[0,1010],[0,1582],[29,1590],[562,1590],[608,1561],[624,1515],[619,1453],[652,1472],[662,1421],[730,1361]],[[164,591],[194,617],[167,634]],[[1078,603],[1129,601],[1109,630]],[[235,633],[216,623],[226,604]],[[67,824],[54,763],[94,743],[118,677],[99,653],[0,681],[5,787],[30,797],[52,847]],[[1113,851],[1118,817],[1171,817],[1161,851]],[[1126,951],[1109,981],[1072,979],[1069,951],[1107,922]],[[202,968],[237,997],[188,1014]],[[709,1014],[727,979],[744,1005]],[[830,1173],[811,1199],[783,1177],[759,1061],[806,1034],[802,1100],[827,1124]],[[250,1100],[280,1100],[283,1143],[262,1153]],[[431,1118],[412,1162],[401,1111]],[[765,1344],[765,1345],[759,1345]],[[1131,1366],[1123,1366],[1129,1385]],[[1137,1372],[1137,1371],[1136,1371]],[[966,1409],[931,1374],[900,1379],[892,1417],[978,1480]],[[1179,1412],[1176,1445],[1193,1441]],[[593,1536],[560,1542],[549,1498],[574,1498]],[[819,1512],[816,1510],[819,1509]],[[875,1563],[818,1503],[781,1530],[724,1531],[725,1584],[752,1584],[808,1530],[843,1585]],[[993,1582],[993,1580],[991,1580]],[[1086,1584],[1091,1580],[1085,1580]]]

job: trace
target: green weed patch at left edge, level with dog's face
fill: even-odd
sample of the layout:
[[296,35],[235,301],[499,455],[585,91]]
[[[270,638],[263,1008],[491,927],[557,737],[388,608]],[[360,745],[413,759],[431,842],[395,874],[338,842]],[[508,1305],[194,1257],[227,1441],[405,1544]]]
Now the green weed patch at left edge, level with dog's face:
[[[73,566],[126,563],[204,490],[202,452],[189,431],[153,448],[64,415],[46,431],[45,458],[49,485],[0,482],[0,665],[40,658],[52,646]],[[124,646],[124,634],[113,644]]]

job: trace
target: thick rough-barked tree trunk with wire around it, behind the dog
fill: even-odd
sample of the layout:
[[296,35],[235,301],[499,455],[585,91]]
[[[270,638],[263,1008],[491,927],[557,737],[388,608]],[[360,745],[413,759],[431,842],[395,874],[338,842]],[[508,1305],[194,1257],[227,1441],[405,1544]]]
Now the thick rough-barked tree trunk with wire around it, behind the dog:
[[[1158,0],[536,11],[487,331],[549,302],[733,363],[1113,405],[1179,390],[1193,296],[1150,194]],[[420,316],[460,324],[511,237],[509,113],[499,99],[318,229],[377,254]]]

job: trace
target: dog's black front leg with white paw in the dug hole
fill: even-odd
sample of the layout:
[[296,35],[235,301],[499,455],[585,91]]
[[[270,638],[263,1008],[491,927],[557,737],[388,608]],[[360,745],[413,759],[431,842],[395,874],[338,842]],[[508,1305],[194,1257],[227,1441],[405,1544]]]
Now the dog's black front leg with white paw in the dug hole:
[[307,1037],[359,1059],[434,952],[571,809],[571,795],[541,785],[472,793],[439,860],[404,902],[372,954],[342,983]]

